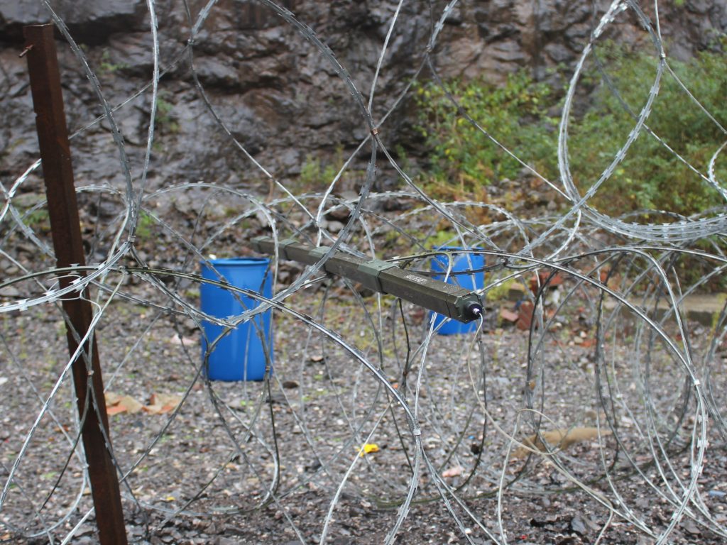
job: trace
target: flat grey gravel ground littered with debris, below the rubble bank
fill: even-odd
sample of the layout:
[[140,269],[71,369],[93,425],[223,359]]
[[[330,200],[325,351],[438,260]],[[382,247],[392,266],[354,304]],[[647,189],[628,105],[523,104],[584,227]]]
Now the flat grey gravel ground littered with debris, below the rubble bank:
[[[574,305],[564,307],[547,334],[536,334],[542,342],[531,344],[529,366],[529,331],[494,319],[510,302],[496,302],[489,310],[490,331],[434,335],[424,352],[427,317],[408,304],[403,306],[408,347],[401,316],[386,299],[378,312],[377,298],[366,298],[375,327],[337,283],[327,291],[301,291],[288,306],[316,316],[324,292],[324,319],[318,321],[379,368],[421,426],[422,452],[431,466],[419,461],[419,488],[398,543],[479,544],[507,536],[509,543],[579,544],[593,543],[602,533],[602,543],[647,544],[654,538],[646,530],[658,534],[666,528],[695,463],[689,440],[696,408],[694,395],[684,397],[683,371],[663,346],[651,346],[648,361],[633,359],[639,344],[635,324],[622,323],[606,337],[609,357],[598,366],[593,347],[583,342],[593,338],[593,327],[578,325],[584,320],[578,320]],[[193,286],[185,293],[195,300]],[[2,316],[0,460],[7,476],[66,361],[63,320],[54,307]],[[696,327],[691,334],[692,351],[699,355],[709,332]],[[153,395],[181,400],[176,411],[111,416],[113,448],[128,472],[124,506],[134,541],[316,543],[327,521],[326,543],[379,543],[395,525],[411,485],[414,436],[391,392],[340,345],[278,313],[268,388],[260,382],[205,382],[191,320],[149,305],[115,299],[97,335],[107,392],[146,405]],[[647,340],[643,336],[641,342]],[[725,352],[718,358],[723,366]],[[608,416],[596,400],[597,375]],[[723,391],[723,376],[712,378],[712,388]],[[647,393],[651,412],[643,403]],[[528,399],[537,413],[523,411]],[[42,528],[41,521],[58,522],[51,533],[62,540],[92,506],[81,452],[72,447],[72,400],[66,376],[9,488],[1,512],[3,542],[48,542],[47,535],[28,537]],[[598,419],[604,435],[557,456],[506,462],[506,435],[522,440],[541,413],[544,431],[592,429]],[[606,417],[620,446],[606,435]],[[684,517],[672,543],[725,539],[726,449],[713,422],[707,426],[710,446],[696,498],[712,521],[691,504],[704,524]],[[652,443],[658,463],[648,446],[655,440],[661,442]],[[359,454],[365,443],[377,448]],[[445,493],[449,505],[438,493],[445,486],[451,487]],[[39,498],[51,491],[41,509]],[[609,517],[609,504],[619,514]],[[80,522],[73,543],[96,542],[93,520]],[[712,531],[715,525],[722,535]]]

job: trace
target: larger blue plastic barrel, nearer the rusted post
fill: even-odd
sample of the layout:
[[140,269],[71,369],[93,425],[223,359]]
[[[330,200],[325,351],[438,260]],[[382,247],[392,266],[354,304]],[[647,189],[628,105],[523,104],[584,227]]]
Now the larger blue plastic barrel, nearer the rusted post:
[[[222,275],[231,286],[246,288],[265,297],[273,293],[270,275],[270,259],[238,257],[233,259],[210,259],[214,270]],[[202,278],[220,280],[205,262],[201,263]],[[243,294],[202,283],[199,290],[202,312],[215,318],[229,318],[245,310],[257,307],[259,302]],[[207,342],[212,345],[206,375],[210,380],[240,381],[262,380],[265,376],[265,350],[273,363],[273,347],[270,344],[270,310],[255,315],[251,320],[240,323],[236,328],[214,344],[225,327],[203,320],[202,359],[206,357]],[[206,339],[205,339],[206,336]],[[263,344],[265,343],[265,344]]]

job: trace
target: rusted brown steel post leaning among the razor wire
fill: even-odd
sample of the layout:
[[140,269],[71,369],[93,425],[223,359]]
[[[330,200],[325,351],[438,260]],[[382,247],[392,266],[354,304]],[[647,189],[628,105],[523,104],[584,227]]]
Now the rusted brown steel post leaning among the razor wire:
[[[53,25],[26,26],[23,35],[57,266],[84,265],[86,259],[73,185],[71,148],[63,111]],[[68,286],[71,280],[68,276],[58,278],[60,288]],[[73,331],[81,338],[91,326],[92,309],[87,295],[79,294],[78,298],[69,297],[62,302],[68,316],[66,336],[71,355],[79,347]],[[108,415],[94,335],[84,343],[72,369],[99,540],[102,545],[126,545],[119,478],[111,460],[111,445],[106,445],[104,438],[104,433],[108,437]]]

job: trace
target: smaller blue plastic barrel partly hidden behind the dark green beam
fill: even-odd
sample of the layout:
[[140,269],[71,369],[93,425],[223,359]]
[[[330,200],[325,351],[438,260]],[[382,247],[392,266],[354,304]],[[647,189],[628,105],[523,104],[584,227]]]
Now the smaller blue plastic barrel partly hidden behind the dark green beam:
[[[442,246],[437,250],[441,251],[458,251],[464,248],[458,246]],[[432,258],[432,270],[441,271],[442,275],[437,275],[434,278],[436,280],[444,280],[446,276],[447,268],[449,265],[450,258],[446,255],[437,255]],[[485,257],[483,254],[451,254],[452,268],[447,278],[447,283],[457,284],[457,286],[465,289],[475,290],[481,289],[485,286]],[[468,275],[454,275],[453,273],[461,273],[465,270],[475,270],[476,273],[470,273]],[[456,335],[459,333],[470,333],[476,331],[479,325],[479,320],[474,320],[470,323],[462,323],[457,320],[449,320],[441,324],[446,320],[446,316],[437,314],[434,318],[434,328],[440,335]],[[437,329],[439,327],[439,329]]]

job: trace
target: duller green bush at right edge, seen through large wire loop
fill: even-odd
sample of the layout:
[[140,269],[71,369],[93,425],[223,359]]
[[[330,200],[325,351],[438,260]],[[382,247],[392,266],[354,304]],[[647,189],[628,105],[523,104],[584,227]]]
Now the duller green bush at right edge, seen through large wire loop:
[[[581,192],[600,177],[624,145],[646,104],[658,65],[653,55],[627,52],[610,45],[603,47],[598,55],[617,94],[608,88],[601,74],[592,73],[594,80],[601,81],[593,93],[593,102],[581,118],[570,124],[571,171]],[[727,123],[724,62],[725,56],[720,52],[702,52],[691,62],[669,62],[694,97],[723,125]],[[646,124],[702,173],[707,172],[712,154],[725,140],[725,134],[666,70]],[[725,180],[727,160],[721,158],[716,167],[717,179]],[[723,199],[644,131],[611,179],[599,188],[593,203],[610,214],[655,209],[688,215],[721,205]]]

